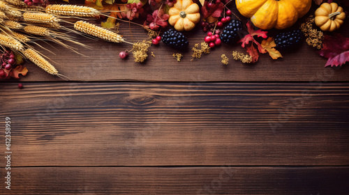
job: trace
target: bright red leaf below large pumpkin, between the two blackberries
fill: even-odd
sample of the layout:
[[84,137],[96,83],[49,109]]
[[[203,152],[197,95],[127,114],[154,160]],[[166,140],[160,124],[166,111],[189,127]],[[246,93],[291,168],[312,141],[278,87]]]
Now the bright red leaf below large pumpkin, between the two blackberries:
[[255,45],[257,45],[258,51],[261,54],[265,54],[267,51],[253,37],[257,36],[257,37],[261,37],[261,38],[267,38],[268,32],[262,31],[261,29],[258,29],[257,31],[255,31],[255,29],[253,29],[253,26],[252,26],[250,21],[247,22],[246,26],[247,26],[248,34],[246,36],[244,36],[244,38],[239,40],[239,42],[242,42],[242,47],[246,47],[248,54],[250,54],[250,56],[252,56],[252,63],[255,63],[256,61],[258,61],[259,55],[258,55],[257,49],[255,49],[255,47],[253,47],[253,43]]

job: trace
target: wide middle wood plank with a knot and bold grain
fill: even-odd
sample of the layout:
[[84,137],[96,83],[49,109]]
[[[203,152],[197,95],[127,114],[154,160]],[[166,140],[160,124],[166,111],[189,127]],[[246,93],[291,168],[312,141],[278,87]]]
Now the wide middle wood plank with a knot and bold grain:
[[0,91],[13,166],[349,162],[349,84],[26,83]]

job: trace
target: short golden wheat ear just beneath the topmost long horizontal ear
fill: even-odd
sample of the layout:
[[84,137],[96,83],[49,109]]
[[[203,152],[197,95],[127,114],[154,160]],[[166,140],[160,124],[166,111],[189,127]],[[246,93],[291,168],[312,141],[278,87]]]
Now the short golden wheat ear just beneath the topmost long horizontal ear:
[[59,19],[54,15],[48,13],[31,13],[26,12],[23,14],[24,22],[34,23],[34,24],[52,24],[59,22]]

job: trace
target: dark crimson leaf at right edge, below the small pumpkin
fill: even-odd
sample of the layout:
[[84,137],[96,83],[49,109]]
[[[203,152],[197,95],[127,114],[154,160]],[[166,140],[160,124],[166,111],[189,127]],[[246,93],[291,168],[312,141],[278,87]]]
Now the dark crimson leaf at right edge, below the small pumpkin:
[[319,54],[328,59],[325,67],[331,65],[339,66],[349,61],[349,38],[341,34],[334,34],[334,36],[327,36],[323,40],[322,49]]

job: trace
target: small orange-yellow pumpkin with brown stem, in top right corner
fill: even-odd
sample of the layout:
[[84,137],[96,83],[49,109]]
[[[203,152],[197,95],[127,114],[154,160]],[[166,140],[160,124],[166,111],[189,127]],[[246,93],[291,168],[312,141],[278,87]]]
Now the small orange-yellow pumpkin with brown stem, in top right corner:
[[315,24],[322,31],[334,31],[339,29],[346,19],[346,13],[337,3],[322,3],[315,11]]

